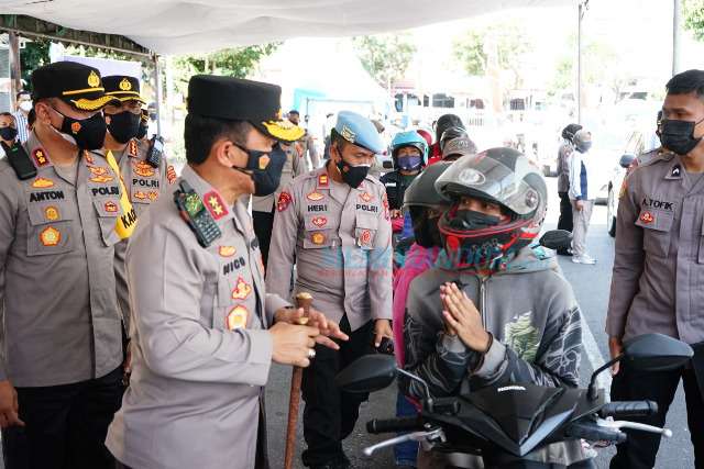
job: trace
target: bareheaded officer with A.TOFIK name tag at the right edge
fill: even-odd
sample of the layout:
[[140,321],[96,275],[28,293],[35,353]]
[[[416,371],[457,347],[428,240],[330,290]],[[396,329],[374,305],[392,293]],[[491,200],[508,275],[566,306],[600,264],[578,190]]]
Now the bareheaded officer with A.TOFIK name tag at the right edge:
[[[660,139],[670,153],[639,165],[624,182],[616,217],[616,256],[606,317],[612,357],[623,342],[661,333],[693,345],[693,364],[672,371],[616,367],[612,399],[652,400],[658,413],[632,418],[662,426],[683,381],[694,459],[704,467],[704,71],[667,85]],[[698,345],[697,345],[698,344]],[[660,436],[627,432],[612,468],[651,468]]]

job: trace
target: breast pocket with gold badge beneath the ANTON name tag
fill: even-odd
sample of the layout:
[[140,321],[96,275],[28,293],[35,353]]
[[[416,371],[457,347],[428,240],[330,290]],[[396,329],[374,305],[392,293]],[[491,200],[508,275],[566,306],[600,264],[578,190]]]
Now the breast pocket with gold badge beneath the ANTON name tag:
[[73,250],[73,216],[66,204],[30,203],[28,212],[28,256],[47,256]]

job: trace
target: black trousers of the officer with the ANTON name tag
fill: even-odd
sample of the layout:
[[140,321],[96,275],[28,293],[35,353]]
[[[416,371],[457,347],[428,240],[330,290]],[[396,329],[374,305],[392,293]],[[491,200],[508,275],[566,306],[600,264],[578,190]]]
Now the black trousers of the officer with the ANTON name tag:
[[122,404],[122,367],[73,384],[16,388],[25,427],[2,432],[7,469],[113,469],[108,426]]

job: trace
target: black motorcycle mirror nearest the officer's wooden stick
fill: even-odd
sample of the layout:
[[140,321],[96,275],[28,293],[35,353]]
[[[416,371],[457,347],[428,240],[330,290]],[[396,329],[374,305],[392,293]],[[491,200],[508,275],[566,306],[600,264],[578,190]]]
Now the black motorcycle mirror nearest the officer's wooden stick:
[[389,355],[365,355],[334,378],[334,383],[346,392],[372,392],[386,388],[396,378],[396,359]]

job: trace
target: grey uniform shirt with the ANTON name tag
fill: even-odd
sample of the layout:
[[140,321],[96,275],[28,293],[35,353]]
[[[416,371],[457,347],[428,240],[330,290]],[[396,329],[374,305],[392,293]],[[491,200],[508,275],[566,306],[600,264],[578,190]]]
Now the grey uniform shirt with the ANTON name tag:
[[24,148],[36,177],[21,181],[0,161],[0,379],[45,387],[99,378],[122,362],[119,176],[84,154],[66,177],[34,133]]

